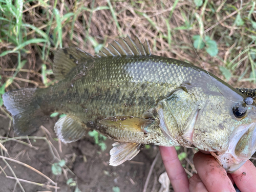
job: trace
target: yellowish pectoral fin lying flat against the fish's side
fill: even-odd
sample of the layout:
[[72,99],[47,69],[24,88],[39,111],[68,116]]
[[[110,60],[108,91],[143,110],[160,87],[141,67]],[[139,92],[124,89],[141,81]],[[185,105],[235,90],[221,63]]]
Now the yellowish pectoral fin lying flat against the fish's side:
[[153,123],[153,120],[132,116],[108,117],[99,121],[100,124],[118,128],[124,131],[143,132],[143,128]]

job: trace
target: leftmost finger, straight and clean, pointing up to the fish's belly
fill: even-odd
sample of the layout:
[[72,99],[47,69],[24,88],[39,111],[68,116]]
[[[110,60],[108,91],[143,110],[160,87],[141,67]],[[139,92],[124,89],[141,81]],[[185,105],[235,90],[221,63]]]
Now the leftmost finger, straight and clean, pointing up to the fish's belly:
[[159,146],[159,149],[174,191],[189,191],[187,174],[180,163],[175,147]]

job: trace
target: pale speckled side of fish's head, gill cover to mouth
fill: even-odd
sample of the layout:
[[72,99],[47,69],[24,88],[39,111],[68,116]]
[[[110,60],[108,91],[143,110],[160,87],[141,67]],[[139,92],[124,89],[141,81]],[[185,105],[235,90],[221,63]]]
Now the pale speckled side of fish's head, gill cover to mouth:
[[210,152],[233,172],[256,151],[256,103],[229,90],[229,96],[206,94],[202,99],[182,89],[163,100],[160,127],[177,145]]

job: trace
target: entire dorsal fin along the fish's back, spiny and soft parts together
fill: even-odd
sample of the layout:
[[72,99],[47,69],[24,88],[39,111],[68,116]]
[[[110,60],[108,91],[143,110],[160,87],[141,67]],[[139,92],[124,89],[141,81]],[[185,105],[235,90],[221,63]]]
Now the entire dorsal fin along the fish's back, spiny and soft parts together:
[[151,55],[147,40],[142,44],[136,36],[133,41],[128,35],[125,38],[115,40],[107,48],[103,48],[96,56],[91,55],[79,48],[67,47],[59,49],[54,56],[53,73],[57,80],[64,79],[72,68],[83,63],[82,61],[95,57],[113,57],[121,55]]

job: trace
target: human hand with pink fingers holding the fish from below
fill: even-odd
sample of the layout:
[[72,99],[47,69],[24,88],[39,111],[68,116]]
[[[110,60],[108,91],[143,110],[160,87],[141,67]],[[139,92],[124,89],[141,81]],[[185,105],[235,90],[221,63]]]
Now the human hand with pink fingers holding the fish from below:
[[256,167],[249,160],[236,172],[227,174],[213,156],[198,152],[193,158],[198,173],[188,179],[175,147],[159,149],[174,191],[236,191],[234,183],[242,192],[256,191]]

